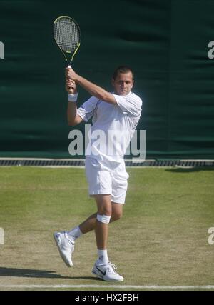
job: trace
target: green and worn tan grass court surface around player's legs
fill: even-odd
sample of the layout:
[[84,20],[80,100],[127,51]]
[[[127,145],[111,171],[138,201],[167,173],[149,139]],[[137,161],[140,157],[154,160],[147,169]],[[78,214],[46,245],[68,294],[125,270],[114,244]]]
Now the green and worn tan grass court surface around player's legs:
[[[111,224],[108,256],[124,285],[213,285],[213,169],[127,169],[123,218]],[[93,232],[76,241],[68,269],[52,239],[96,211],[84,169],[0,168],[0,283],[99,284]],[[1,289],[1,288],[0,288]],[[103,288],[104,289],[104,288]],[[129,289],[130,290],[130,289]]]

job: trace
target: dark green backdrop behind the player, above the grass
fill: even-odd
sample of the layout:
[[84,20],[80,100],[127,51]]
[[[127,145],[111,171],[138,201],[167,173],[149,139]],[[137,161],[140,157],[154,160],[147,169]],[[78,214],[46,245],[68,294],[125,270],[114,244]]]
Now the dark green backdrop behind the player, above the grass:
[[0,0],[1,157],[69,156],[64,61],[52,39],[61,15],[81,26],[78,73],[111,90],[116,66],[135,70],[146,159],[214,159],[213,0]]

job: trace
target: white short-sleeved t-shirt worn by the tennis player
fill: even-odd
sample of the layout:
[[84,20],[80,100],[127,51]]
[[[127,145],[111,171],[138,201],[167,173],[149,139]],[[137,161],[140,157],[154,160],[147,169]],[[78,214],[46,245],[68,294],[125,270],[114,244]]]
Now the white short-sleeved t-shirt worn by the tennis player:
[[110,104],[91,96],[77,114],[84,121],[92,118],[86,157],[103,162],[123,160],[129,142],[141,116],[142,100],[130,92],[125,96],[113,94],[116,104]]

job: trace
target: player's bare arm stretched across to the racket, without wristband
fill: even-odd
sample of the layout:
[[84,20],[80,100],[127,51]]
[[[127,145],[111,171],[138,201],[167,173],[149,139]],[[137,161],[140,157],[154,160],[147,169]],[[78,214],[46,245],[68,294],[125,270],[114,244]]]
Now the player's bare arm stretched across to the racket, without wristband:
[[107,92],[105,89],[97,86],[96,84],[91,83],[87,79],[84,79],[82,76],[76,74],[73,69],[70,67],[66,68],[66,77],[68,79],[73,79],[76,84],[80,85],[83,89],[88,91],[89,94],[92,96],[101,99],[102,101],[106,101],[107,103],[116,104],[116,99],[114,98],[113,94]]

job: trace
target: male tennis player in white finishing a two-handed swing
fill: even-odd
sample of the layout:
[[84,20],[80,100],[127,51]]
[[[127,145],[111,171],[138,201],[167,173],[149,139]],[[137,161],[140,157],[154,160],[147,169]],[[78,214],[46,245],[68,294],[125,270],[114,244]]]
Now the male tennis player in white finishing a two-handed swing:
[[[97,212],[71,231],[54,233],[54,239],[61,258],[71,267],[76,239],[95,230],[98,259],[92,273],[104,281],[123,281],[123,276],[116,272],[116,266],[108,259],[107,242],[108,224],[123,214],[128,179],[123,156],[141,116],[142,101],[131,91],[133,83],[133,71],[128,66],[119,66],[114,71],[113,93],[84,79],[71,67],[66,68],[69,126],[87,122],[92,117],[91,134],[98,132],[106,137],[99,145],[96,139],[91,139],[86,149],[90,152],[86,155],[86,178]],[[78,109],[77,84],[91,94],[91,98]],[[123,141],[114,143],[115,134],[120,134]],[[109,146],[113,147],[109,150]]]

